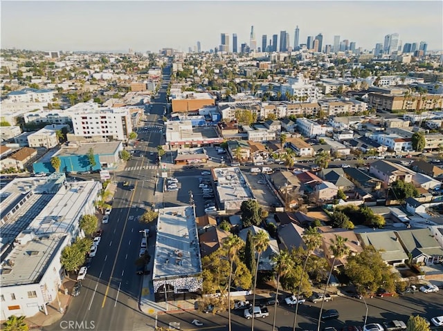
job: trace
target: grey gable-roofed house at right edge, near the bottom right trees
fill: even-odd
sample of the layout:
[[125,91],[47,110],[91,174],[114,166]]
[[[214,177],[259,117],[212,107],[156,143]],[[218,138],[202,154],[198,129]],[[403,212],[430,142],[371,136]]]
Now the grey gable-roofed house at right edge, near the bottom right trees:
[[396,234],[412,263],[431,265],[443,261],[443,248],[429,229],[407,229]]

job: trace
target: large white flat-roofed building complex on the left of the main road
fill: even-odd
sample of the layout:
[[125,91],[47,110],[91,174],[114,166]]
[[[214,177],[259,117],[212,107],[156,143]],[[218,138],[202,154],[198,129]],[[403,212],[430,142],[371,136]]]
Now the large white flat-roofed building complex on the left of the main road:
[[62,173],[16,178],[1,189],[1,319],[60,309],[62,249],[80,233],[79,220],[94,214],[99,182],[69,182]]

